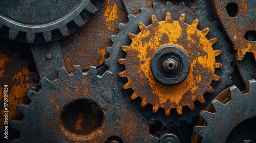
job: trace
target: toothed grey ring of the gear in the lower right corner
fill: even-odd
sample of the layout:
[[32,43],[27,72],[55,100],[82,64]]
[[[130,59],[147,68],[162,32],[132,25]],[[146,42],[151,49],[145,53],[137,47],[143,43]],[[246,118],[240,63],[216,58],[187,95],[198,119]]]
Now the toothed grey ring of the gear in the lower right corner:
[[209,111],[209,107],[200,112],[207,125],[197,125],[194,131],[202,136],[202,142],[226,142],[234,127],[247,118],[256,116],[255,80],[248,81],[246,91],[241,92],[236,86],[231,86],[219,95],[222,99],[228,99],[230,96],[231,100],[224,104],[219,101],[221,98],[211,101],[216,112]]

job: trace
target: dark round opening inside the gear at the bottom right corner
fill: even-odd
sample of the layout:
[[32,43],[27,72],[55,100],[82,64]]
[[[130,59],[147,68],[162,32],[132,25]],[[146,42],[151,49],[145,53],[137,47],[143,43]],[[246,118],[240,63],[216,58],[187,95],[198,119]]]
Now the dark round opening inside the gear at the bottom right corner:
[[228,135],[226,143],[256,142],[255,120],[256,116],[247,118],[239,123]]

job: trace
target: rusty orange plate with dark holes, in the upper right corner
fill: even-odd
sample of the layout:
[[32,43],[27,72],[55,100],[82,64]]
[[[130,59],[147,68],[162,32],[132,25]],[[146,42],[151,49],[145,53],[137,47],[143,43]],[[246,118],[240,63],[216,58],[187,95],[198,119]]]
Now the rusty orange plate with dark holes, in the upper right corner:
[[[256,1],[215,0],[213,4],[229,39],[233,42],[233,49],[237,50],[237,60],[243,60],[247,52],[253,53],[256,59]],[[248,31],[254,31],[252,37],[247,37]]]

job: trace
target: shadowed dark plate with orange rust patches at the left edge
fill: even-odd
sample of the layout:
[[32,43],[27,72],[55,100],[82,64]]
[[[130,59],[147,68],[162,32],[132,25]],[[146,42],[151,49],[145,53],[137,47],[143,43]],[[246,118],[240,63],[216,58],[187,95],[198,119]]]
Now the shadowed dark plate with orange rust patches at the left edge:
[[[32,74],[28,66],[31,60],[20,59],[20,47],[12,47],[15,52],[8,48],[8,45],[1,40],[0,45],[0,106],[1,115],[4,113],[4,85],[8,85],[8,110],[9,121],[17,120],[20,117],[20,112],[16,109],[18,104],[26,103],[26,92],[33,85],[34,74]],[[12,45],[13,46],[13,45]],[[15,45],[17,46],[17,45]],[[3,117],[1,116],[1,119]],[[9,123],[11,124],[11,123]],[[4,120],[0,121],[0,133],[3,132]]]

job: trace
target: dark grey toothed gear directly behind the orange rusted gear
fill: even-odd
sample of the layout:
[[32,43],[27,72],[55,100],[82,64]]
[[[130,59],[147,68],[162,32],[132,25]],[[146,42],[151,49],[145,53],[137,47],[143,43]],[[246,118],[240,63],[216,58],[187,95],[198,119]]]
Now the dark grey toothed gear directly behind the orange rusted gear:
[[[141,13],[138,16],[128,15],[129,22],[120,23],[119,30],[120,32],[116,36],[112,36],[111,40],[113,41],[112,47],[107,47],[106,51],[110,53],[110,58],[105,60],[105,64],[109,66],[110,71],[116,75],[117,81],[119,81],[119,88],[121,89],[122,85],[127,83],[125,79],[118,78],[118,73],[124,70],[123,65],[118,65],[117,60],[119,58],[125,57],[125,52],[123,52],[120,47],[121,45],[130,45],[131,40],[127,36],[128,33],[139,33],[140,29],[138,27],[138,22],[144,23],[144,25],[151,24],[151,15],[155,15],[159,21],[165,18],[166,12],[172,13],[173,19],[179,19],[179,16],[184,13],[186,15],[185,22],[191,23],[193,20],[198,19],[199,25],[198,29],[202,30],[203,28],[209,27],[210,31],[206,35],[207,38],[216,37],[218,41],[213,45],[214,49],[222,50],[222,54],[216,57],[216,61],[223,64],[223,67],[216,69],[216,75],[221,77],[221,81],[212,82],[211,86],[215,89],[215,94],[205,94],[206,104],[195,103],[195,110],[191,111],[188,107],[183,107],[183,114],[178,115],[177,113],[170,112],[169,116],[164,115],[164,111],[158,111],[157,113],[152,113],[152,106],[146,105],[144,108],[140,108],[140,100],[131,101],[131,103],[140,111],[143,115],[151,117],[153,120],[164,121],[164,122],[174,122],[175,125],[179,125],[180,121],[187,121],[192,123],[193,117],[198,116],[199,112],[210,103],[212,99],[216,97],[218,93],[226,88],[227,85],[232,85],[232,78],[230,77],[233,72],[233,67],[230,66],[230,62],[234,59],[234,56],[230,54],[231,45],[225,41],[225,33],[218,30],[218,22],[210,22],[207,19],[206,12],[198,12],[195,7],[190,9],[185,8],[184,3],[181,3],[178,7],[172,5],[171,2],[167,1],[164,7],[159,7],[157,4],[153,5],[151,10],[146,10],[141,8]],[[124,90],[126,98],[130,98],[133,91]]]

